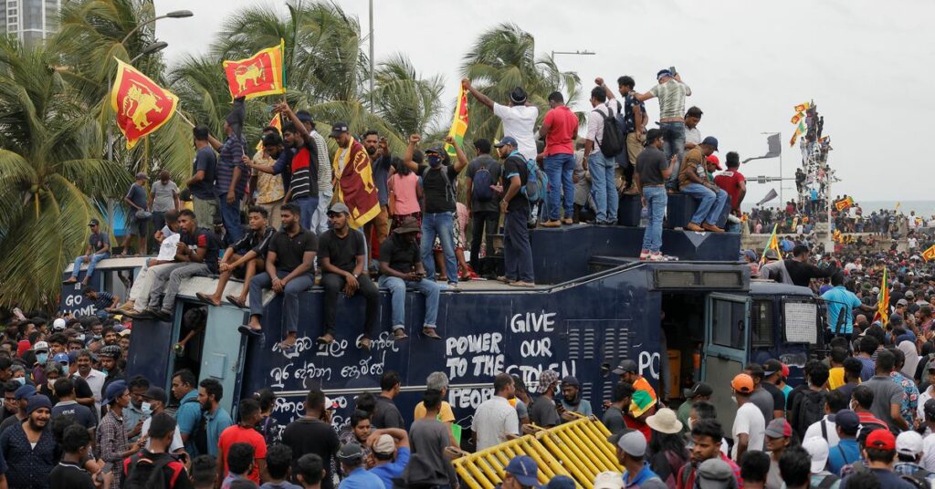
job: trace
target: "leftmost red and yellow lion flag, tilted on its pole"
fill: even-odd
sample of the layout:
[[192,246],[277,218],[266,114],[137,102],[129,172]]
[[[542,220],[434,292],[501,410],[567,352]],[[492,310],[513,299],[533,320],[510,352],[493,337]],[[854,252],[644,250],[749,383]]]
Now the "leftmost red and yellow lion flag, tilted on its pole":
[[110,91],[110,107],[117,126],[132,150],[140,137],[159,129],[175,114],[179,97],[156,84],[137,68],[117,60],[117,79]]

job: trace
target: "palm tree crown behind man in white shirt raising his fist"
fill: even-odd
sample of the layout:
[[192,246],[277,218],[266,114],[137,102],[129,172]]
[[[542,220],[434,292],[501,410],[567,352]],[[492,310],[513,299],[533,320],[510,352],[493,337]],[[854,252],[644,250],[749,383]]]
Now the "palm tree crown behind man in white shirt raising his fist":
[[[530,104],[539,107],[539,122],[548,108],[549,93],[562,91],[570,105],[581,94],[581,79],[574,72],[563,72],[551,56],[536,59],[535,38],[513,23],[502,23],[480,37],[465,55],[462,75],[483,94],[506,104],[510,92],[523,87]],[[493,139],[502,135],[500,120],[482,104],[471,104],[468,112],[470,137]],[[579,114],[583,120],[583,115]]]

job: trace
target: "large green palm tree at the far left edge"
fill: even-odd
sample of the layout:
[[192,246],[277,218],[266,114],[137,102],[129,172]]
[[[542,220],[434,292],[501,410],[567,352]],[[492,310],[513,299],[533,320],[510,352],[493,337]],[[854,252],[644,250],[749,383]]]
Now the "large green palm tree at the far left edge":
[[0,277],[23,309],[56,306],[62,270],[100,217],[95,202],[131,182],[100,158],[100,125],[60,61],[0,38]]

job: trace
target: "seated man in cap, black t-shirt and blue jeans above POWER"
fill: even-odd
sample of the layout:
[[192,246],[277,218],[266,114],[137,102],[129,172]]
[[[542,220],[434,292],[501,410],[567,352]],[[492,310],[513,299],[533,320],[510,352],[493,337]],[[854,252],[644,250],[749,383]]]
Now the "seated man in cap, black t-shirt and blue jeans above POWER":
[[425,295],[425,320],[422,334],[441,339],[435,331],[439,315],[439,292],[442,285],[425,278],[419,241],[421,228],[414,217],[407,217],[380,245],[380,286],[390,289],[393,339],[406,335],[406,289],[415,288]]

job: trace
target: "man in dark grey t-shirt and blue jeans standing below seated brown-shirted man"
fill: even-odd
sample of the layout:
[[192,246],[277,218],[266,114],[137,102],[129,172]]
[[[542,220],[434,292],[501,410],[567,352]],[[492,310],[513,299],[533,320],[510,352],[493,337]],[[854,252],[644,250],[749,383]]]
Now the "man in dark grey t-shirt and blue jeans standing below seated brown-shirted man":
[[649,209],[649,223],[643,234],[640,260],[662,261],[662,220],[666,216],[669,194],[666,193],[666,181],[672,172],[676,156],[670,160],[662,152],[664,137],[661,129],[650,129],[646,133],[646,148],[637,156],[634,183],[643,196]]

